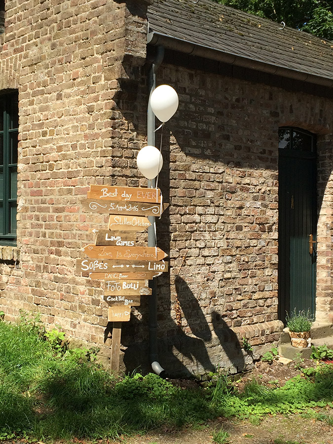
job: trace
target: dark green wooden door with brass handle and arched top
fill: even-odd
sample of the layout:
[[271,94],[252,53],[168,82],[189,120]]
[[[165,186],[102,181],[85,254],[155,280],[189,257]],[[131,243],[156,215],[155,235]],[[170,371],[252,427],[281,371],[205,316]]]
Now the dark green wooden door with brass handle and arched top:
[[[279,319],[286,311],[315,314],[315,136],[298,128],[279,130]],[[313,246],[312,252],[310,246]]]

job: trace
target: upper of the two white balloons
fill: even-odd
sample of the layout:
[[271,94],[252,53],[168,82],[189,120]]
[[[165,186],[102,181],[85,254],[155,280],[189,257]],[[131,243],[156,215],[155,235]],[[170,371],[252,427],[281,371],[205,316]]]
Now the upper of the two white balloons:
[[178,95],[172,86],[160,85],[151,93],[151,109],[161,122],[166,122],[171,119],[177,111],[178,104]]

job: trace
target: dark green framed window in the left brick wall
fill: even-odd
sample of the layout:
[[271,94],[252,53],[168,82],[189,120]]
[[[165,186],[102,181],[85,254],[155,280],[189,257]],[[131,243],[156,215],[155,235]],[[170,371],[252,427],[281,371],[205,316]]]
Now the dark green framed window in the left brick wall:
[[0,245],[16,245],[18,94],[0,96]]

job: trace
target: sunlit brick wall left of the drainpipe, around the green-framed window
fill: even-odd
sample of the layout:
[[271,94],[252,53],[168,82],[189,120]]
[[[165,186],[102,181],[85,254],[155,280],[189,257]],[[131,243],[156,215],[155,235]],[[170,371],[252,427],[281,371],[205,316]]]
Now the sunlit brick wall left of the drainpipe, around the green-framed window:
[[48,326],[102,347],[101,283],[74,269],[89,228],[106,218],[83,212],[80,198],[90,184],[125,184],[133,167],[140,138],[114,97],[145,61],[147,4],[11,1],[0,36],[0,90],[18,90],[20,115],[18,242],[0,248],[0,304],[6,319],[40,311]]

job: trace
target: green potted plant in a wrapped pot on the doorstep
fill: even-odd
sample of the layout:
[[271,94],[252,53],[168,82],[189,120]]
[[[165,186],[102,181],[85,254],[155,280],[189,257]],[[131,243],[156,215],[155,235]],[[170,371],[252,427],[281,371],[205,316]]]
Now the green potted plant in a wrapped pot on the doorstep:
[[311,344],[310,329],[312,325],[312,316],[310,310],[305,312],[301,310],[296,313],[296,308],[286,316],[287,327],[293,347],[305,348]]

